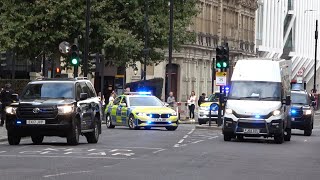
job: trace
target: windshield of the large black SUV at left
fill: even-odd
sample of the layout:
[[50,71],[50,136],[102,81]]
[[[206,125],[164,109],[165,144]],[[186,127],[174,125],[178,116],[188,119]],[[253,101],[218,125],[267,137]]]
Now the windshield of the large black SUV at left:
[[29,84],[22,94],[21,99],[72,99],[74,98],[73,91],[72,83]]

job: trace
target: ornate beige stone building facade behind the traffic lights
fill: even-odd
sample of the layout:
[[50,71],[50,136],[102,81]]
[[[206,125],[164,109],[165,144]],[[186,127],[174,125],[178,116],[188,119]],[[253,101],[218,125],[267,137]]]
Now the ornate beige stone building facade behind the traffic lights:
[[[173,53],[171,90],[178,101],[185,102],[191,91],[199,96],[212,91],[212,66],[215,48],[228,43],[230,73],[237,59],[255,56],[256,0],[199,0],[200,14],[194,18],[189,31],[197,33],[195,44],[186,44],[180,52]],[[147,67],[147,79],[166,77],[163,99],[167,97],[167,61]],[[138,67],[140,65],[138,64]],[[126,71],[126,82],[141,79],[140,72]],[[219,88],[214,85],[214,91]]]

